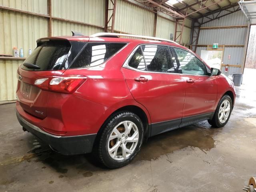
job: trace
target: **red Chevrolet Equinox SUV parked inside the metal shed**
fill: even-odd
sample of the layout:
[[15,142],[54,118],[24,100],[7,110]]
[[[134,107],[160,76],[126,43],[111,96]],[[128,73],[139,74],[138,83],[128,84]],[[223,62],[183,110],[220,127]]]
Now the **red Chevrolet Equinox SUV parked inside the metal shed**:
[[233,82],[170,40],[126,34],[41,38],[18,68],[16,114],[61,154],[128,164],[145,138],[208,120],[222,127]]

